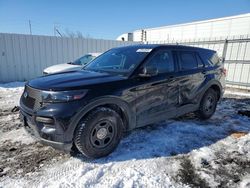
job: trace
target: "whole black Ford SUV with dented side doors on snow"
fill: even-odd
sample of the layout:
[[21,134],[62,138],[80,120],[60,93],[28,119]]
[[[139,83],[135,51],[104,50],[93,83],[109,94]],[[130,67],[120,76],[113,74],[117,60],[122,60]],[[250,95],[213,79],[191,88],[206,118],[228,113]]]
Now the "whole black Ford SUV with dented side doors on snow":
[[224,78],[212,50],[126,46],[105,52],[83,70],[29,81],[20,112],[26,130],[42,143],[98,158],[116,148],[124,131],[189,112],[210,118]]

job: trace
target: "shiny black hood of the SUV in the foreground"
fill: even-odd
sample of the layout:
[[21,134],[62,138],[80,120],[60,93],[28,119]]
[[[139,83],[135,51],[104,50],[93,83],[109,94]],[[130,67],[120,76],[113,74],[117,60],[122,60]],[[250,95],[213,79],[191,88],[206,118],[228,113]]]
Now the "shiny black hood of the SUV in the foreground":
[[124,79],[125,77],[106,72],[79,70],[38,77],[29,81],[28,85],[39,90],[66,91],[88,89],[91,85]]

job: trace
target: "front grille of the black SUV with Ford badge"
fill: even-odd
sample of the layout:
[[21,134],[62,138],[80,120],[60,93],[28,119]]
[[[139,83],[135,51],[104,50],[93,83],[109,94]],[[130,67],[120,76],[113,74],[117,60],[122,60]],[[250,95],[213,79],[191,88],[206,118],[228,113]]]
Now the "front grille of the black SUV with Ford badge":
[[37,110],[42,104],[41,91],[26,85],[22,95],[22,102],[27,108]]

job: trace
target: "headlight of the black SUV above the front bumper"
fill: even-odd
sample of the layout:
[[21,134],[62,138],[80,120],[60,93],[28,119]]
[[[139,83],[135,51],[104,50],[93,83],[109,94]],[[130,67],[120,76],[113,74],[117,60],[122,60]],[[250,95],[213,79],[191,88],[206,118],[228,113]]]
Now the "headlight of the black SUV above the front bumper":
[[82,99],[87,94],[87,90],[75,91],[44,91],[42,93],[43,103],[60,103]]

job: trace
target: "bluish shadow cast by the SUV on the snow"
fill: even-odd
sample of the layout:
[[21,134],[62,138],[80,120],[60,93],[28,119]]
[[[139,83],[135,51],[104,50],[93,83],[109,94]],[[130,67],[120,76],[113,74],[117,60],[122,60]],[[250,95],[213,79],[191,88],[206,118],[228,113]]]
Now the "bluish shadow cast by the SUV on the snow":
[[118,148],[107,157],[96,160],[88,160],[82,156],[77,158],[102,164],[186,154],[210,146],[232,133],[249,133],[250,118],[237,114],[239,109],[249,106],[249,99],[225,98],[208,120],[200,120],[194,114],[187,114],[174,120],[138,128],[127,134]]

